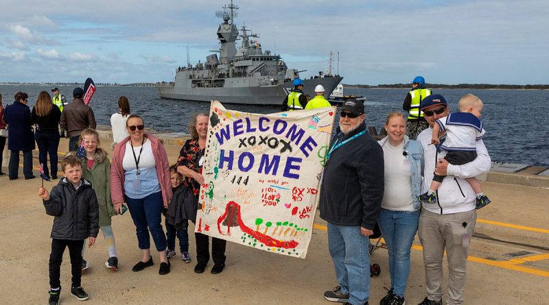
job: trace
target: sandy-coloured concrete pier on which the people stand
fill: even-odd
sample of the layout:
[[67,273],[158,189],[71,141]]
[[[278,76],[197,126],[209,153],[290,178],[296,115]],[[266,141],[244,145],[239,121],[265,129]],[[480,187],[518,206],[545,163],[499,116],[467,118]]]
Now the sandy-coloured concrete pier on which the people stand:
[[[112,156],[110,131],[101,129],[101,146]],[[170,162],[175,162],[185,135],[160,136]],[[67,139],[62,139],[60,156],[67,147]],[[38,176],[37,150],[34,156]],[[53,217],[45,214],[37,195],[41,180],[24,180],[21,167],[20,170],[18,180],[0,177],[0,304],[45,304]],[[465,304],[549,304],[546,296],[549,291],[549,178],[538,175],[543,171],[537,167],[526,167],[515,173],[491,171],[487,181],[482,182],[484,192],[493,202],[478,210],[467,265]],[[48,189],[53,185],[45,182]],[[191,226],[189,230],[194,228]],[[318,217],[305,260],[228,243],[227,266],[218,275],[209,273],[212,262],[205,273],[194,273],[194,234],[189,236],[192,263],[183,263],[177,249],[171,273],[159,276],[159,256],[153,251],[155,265],[132,272],[132,266],[141,259],[141,252],[129,213],[113,217],[113,232],[118,272],[104,265],[107,253],[101,233],[96,244],[86,249],[85,258],[91,263],[91,269],[82,277],[82,286],[90,295],[88,304],[327,305],[331,303],[324,299],[323,293],[337,285],[328,253],[326,223]],[[371,279],[370,304],[378,304],[386,294],[383,287],[390,286],[384,247],[374,252],[372,262],[382,268],[381,275]],[[411,263],[406,303],[418,304],[425,297],[425,273],[417,237]],[[61,303],[81,304],[70,295],[67,252],[61,275]],[[445,300],[446,283],[443,291]]]

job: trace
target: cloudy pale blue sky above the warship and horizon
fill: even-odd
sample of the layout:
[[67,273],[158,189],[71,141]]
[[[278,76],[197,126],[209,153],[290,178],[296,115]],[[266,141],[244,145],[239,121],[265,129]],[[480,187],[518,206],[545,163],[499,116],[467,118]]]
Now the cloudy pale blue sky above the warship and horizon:
[[[158,82],[218,49],[230,0],[0,0],[0,82]],[[548,84],[549,1],[236,0],[235,23],[308,77]],[[240,43],[240,41],[237,41]],[[337,69],[334,56],[334,69]]]

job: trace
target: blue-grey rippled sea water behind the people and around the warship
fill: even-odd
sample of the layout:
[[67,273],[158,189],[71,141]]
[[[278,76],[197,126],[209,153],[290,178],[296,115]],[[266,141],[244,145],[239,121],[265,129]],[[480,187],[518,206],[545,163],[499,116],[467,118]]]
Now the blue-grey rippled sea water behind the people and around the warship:
[[[71,100],[71,87],[59,87]],[[5,103],[22,90],[29,94],[29,106],[34,105],[41,90],[51,86],[0,86]],[[463,95],[472,93],[484,101],[482,122],[487,134],[484,141],[492,160],[549,166],[549,90],[434,90],[442,94],[452,110]],[[407,89],[345,89],[345,94],[366,97],[366,123],[382,127],[386,114],[401,110]],[[118,97],[130,99],[132,113],[145,118],[148,127],[170,132],[188,132],[187,122],[196,112],[208,112],[208,103],[160,99],[152,87],[98,87],[91,106],[100,125],[110,124],[110,115],[117,111]],[[227,105],[226,108],[256,113],[278,112],[272,106]]]

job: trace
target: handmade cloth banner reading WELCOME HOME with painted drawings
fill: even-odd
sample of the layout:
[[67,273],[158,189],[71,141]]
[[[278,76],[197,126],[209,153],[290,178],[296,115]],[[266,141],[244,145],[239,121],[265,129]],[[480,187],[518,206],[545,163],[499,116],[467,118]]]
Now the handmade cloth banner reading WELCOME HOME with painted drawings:
[[336,108],[210,108],[196,232],[305,258]]

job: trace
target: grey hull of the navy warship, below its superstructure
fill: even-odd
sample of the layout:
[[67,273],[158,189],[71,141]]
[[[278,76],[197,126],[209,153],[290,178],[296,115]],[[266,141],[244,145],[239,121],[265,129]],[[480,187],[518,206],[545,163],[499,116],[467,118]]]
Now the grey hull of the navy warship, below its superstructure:
[[[304,92],[309,97],[314,97],[314,87],[321,84],[325,88],[325,97],[341,82],[343,77],[318,77],[306,79]],[[177,77],[176,77],[177,80]],[[229,79],[231,80],[231,79]],[[235,77],[232,82],[246,82],[246,77]],[[292,82],[274,86],[238,86],[233,88],[190,88],[189,84],[183,82],[160,83],[156,86],[160,97],[163,99],[183,99],[187,101],[213,100],[222,103],[237,103],[248,105],[281,105],[283,99],[294,88]]]

